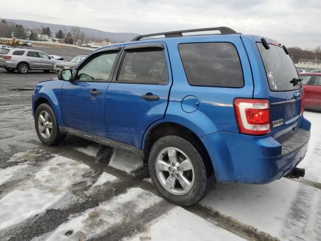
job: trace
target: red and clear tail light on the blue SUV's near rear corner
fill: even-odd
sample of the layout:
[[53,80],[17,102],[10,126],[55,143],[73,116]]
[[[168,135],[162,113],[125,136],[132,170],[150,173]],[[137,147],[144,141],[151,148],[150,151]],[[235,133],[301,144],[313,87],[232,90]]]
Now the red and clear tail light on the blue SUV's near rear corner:
[[240,133],[266,135],[271,132],[270,102],[267,99],[234,99]]

